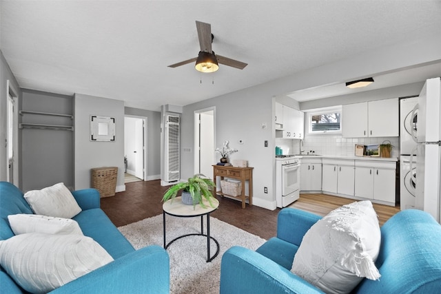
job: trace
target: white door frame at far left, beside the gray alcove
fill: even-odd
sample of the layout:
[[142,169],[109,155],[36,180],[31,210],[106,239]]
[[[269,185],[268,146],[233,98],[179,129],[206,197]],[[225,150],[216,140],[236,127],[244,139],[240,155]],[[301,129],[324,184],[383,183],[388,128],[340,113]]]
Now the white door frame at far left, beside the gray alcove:
[[[9,101],[12,99],[12,105],[14,107],[13,117],[12,117],[12,154],[13,154],[13,169],[12,169],[12,183],[19,187],[19,92],[14,88],[14,86],[10,83],[10,80],[6,80],[6,99],[7,99],[7,109],[6,115],[8,116],[6,122],[6,138],[9,138]],[[6,140],[6,162],[9,165],[9,141]],[[10,177],[10,168],[9,166],[6,169],[6,178],[8,182],[11,182]]]

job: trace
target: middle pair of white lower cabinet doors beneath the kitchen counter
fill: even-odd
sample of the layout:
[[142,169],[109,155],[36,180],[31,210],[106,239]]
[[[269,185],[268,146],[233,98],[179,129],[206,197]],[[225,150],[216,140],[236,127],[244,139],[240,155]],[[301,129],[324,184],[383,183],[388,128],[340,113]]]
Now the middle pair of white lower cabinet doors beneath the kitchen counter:
[[322,159],[322,191],[353,196],[354,160]]

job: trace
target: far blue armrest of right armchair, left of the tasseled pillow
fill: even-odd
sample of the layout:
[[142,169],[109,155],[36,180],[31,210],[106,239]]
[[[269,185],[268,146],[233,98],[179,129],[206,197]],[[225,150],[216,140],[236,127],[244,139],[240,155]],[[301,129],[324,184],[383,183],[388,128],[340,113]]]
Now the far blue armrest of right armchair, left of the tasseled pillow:
[[277,238],[300,246],[305,233],[320,218],[322,217],[300,209],[282,209],[277,218]]

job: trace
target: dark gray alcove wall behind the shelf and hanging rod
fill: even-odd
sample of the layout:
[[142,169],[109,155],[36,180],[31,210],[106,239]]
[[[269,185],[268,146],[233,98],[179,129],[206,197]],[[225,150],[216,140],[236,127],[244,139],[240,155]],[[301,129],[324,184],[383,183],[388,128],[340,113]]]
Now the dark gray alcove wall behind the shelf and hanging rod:
[[[72,115],[72,96],[22,89],[21,110]],[[39,114],[19,116],[21,123],[73,125],[71,118]],[[63,182],[73,188],[73,132],[59,129],[19,129],[23,191]]]

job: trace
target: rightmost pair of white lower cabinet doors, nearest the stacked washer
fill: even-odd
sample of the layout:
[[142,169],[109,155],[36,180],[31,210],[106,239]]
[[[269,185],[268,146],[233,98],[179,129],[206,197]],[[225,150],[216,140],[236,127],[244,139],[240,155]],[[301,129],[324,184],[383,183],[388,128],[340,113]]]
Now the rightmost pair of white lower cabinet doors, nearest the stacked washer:
[[395,205],[396,162],[356,160],[355,196]]

